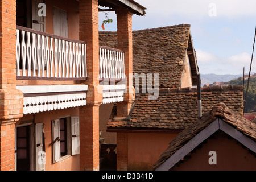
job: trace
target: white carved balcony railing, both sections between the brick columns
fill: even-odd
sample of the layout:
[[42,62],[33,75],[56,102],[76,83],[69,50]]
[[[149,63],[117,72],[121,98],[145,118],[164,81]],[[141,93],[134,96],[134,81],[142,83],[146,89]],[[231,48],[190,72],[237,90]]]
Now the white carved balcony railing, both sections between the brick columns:
[[[125,79],[124,52],[100,46],[99,80]],[[17,26],[18,80],[85,80],[86,42]]]

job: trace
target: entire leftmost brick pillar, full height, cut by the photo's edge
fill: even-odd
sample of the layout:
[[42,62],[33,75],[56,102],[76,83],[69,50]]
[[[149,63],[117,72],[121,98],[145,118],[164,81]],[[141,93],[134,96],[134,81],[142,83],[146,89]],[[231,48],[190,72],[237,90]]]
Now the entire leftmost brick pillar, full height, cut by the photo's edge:
[[14,170],[15,122],[23,93],[16,90],[16,1],[0,1],[0,169]]

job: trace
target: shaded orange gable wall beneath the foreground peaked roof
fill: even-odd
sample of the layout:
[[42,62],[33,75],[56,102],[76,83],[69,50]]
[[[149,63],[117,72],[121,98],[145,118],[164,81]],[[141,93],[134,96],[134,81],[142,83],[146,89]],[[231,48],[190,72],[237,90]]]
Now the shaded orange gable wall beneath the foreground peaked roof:
[[[209,151],[216,151],[216,165],[208,163]],[[191,158],[173,170],[256,170],[255,164],[256,157],[237,143],[237,140],[219,133],[208,139],[201,148],[192,152]]]

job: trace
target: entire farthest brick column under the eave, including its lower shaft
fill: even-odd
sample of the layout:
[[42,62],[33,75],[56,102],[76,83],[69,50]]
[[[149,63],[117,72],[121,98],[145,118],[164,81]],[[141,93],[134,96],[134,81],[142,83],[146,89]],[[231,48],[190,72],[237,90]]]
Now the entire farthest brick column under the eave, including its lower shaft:
[[[118,9],[117,14],[117,47],[125,52],[125,75],[127,90],[123,102],[117,102],[117,116],[126,117],[134,100],[133,89],[133,32],[132,16],[129,9]],[[117,133],[117,170],[125,171],[128,166],[127,133]]]

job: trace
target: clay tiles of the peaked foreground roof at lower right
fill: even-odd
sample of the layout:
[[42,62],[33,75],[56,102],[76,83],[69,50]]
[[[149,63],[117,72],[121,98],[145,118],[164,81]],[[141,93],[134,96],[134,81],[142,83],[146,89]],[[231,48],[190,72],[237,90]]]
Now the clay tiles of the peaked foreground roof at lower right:
[[190,139],[195,137],[201,130],[209,126],[217,118],[228,123],[236,130],[245,134],[250,139],[256,141],[256,123],[253,123],[237,112],[229,109],[224,103],[216,104],[211,110],[193,122],[193,125],[181,131],[169,143],[169,147],[160,155],[159,160],[153,165],[153,169],[158,168],[166,159],[170,158],[179,148],[184,146]]

